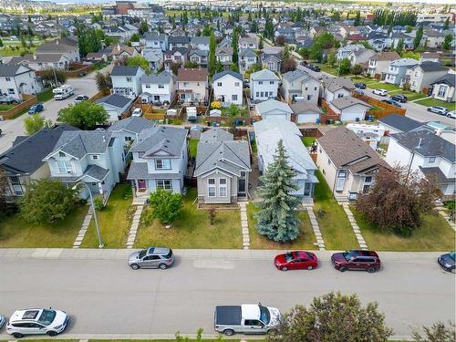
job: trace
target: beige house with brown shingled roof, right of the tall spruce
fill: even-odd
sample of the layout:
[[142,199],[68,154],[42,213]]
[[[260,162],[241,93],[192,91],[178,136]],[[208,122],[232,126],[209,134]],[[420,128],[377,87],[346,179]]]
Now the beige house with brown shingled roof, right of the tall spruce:
[[338,200],[356,200],[370,190],[381,168],[389,168],[375,150],[345,127],[317,140],[316,165]]

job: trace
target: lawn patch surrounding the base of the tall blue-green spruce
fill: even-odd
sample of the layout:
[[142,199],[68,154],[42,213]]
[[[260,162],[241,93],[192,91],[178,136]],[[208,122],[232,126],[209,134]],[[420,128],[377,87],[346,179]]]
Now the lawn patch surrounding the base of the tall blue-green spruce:
[[250,233],[250,248],[251,249],[316,249],[316,236],[312,230],[309,216],[306,211],[298,211],[297,215],[301,221],[301,234],[293,243],[277,243],[269,240],[264,235],[261,235],[256,230],[256,219],[254,218],[254,212],[258,212],[259,209],[255,206],[254,202],[247,204],[247,219],[249,222],[249,233]]

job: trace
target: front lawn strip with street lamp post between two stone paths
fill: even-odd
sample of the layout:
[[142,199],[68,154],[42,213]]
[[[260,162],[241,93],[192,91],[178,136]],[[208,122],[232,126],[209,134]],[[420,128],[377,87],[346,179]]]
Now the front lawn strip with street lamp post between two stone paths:
[[[101,240],[106,248],[125,248],[127,235],[130,232],[132,215],[136,208],[130,210],[132,202],[130,184],[118,184],[111,192],[105,209],[97,212]],[[97,248],[98,236],[95,222],[92,219],[81,248]]]

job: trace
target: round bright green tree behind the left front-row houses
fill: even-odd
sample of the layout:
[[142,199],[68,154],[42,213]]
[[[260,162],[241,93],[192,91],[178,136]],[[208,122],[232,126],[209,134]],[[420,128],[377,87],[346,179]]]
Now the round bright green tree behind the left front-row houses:
[[57,116],[58,121],[81,130],[91,130],[108,119],[109,114],[103,106],[88,101],[70,104],[60,109]]

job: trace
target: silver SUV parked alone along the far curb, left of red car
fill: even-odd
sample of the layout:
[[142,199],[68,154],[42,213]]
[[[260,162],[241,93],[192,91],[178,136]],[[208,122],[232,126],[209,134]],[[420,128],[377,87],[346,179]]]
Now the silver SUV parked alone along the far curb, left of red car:
[[171,248],[149,247],[139,252],[130,254],[129,265],[131,269],[160,268],[165,270],[174,264],[174,254]]

